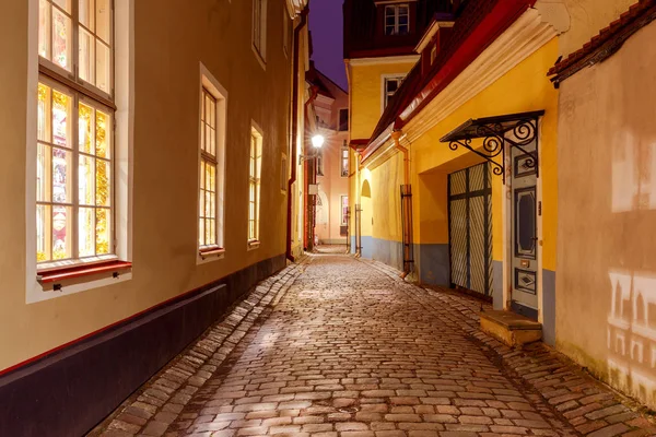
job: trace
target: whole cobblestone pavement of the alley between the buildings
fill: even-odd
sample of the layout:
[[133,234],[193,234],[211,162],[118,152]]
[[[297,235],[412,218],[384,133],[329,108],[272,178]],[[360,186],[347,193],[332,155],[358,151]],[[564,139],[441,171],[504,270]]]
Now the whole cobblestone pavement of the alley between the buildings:
[[268,281],[247,298],[251,314],[229,317],[233,333],[220,330],[229,346],[215,338],[201,363],[183,354],[187,367],[154,377],[99,434],[656,435],[639,405],[549,347],[511,350],[480,332],[473,298],[347,256]]

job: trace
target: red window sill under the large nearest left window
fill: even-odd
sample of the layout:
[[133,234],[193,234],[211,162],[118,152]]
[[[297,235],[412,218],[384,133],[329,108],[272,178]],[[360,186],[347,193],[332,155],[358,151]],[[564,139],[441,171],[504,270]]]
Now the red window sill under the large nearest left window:
[[[37,273],[37,281],[44,286],[44,291],[46,291],[46,286],[48,291],[50,291],[50,285],[52,291],[59,291],[62,287],[62,283],[73,284],[75,280],[80,279],[91,279],[92,276],[98,277],[118,277],[119,273],[125,273],[126,271],[132,270],[132,263],[128,261],[107,261],[95,264],[87,265],[73,265],[61,269],[42,271]],[[98,279],[98,277],[94,277]]]

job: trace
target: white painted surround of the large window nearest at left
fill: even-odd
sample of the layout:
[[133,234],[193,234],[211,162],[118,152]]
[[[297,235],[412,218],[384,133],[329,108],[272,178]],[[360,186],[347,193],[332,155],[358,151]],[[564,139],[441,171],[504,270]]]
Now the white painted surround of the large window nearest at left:
[[[28,0],[27,7],[27,114],[26,144],[36,144],[37,85],[38,85],[38,0]],[[132,259],[132,191],[134,138],[134,3],[115,0],[115,86],[116,120],[114,143],[114,221],[116,256],[124,261]],[[36,280],[36,233],[30,226],[36,217],[36,147],[25,147],[25,303],[33,304],[60,296],[81,293],[119,282],[132,274],[65,285],[60,292],[44,292]],[[32,217],[32,218],[31,218]]]

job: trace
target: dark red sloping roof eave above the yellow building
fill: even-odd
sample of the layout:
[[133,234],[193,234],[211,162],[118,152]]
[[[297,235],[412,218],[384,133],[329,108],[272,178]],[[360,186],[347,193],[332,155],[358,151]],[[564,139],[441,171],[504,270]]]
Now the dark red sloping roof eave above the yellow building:
[[382,145],[379,138],[391,125],[400,129],[440,94],[483,50],[505,32],[536,0],[469,1],[456,20],[450,37],[433,67],[421,74],[420,62],[391,98],[364,152],[365,161]]

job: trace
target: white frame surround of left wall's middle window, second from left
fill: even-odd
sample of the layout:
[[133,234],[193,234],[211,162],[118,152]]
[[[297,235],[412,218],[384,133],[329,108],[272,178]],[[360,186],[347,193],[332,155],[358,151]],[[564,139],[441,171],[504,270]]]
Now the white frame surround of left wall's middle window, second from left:
[[[196,163],[196,212],[200,210],[200,139],[203,129],[200,115],[202,111],[203,95],[206,88],[216,99],[216,245],[225,250],[225,173],[227,172],[225,149],[227,130],[227,91],[221,85],[221,82],[210,72],[210,70],[199,62],[200,76],[198,81],[198,157]],[[202,257],[199,252],[198,240],[200,238],[198,228],[198,216],[196,221],[196,264],[206,264],[225,258],[225,251],[213,256]]]

